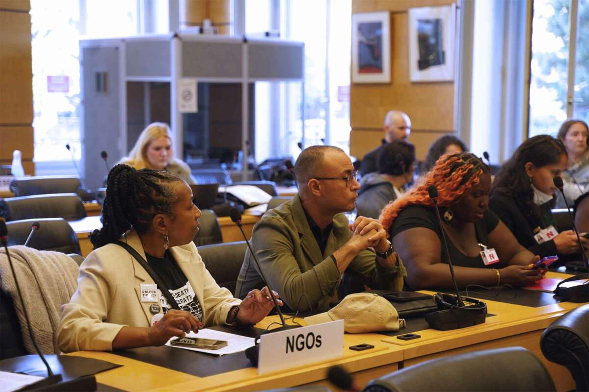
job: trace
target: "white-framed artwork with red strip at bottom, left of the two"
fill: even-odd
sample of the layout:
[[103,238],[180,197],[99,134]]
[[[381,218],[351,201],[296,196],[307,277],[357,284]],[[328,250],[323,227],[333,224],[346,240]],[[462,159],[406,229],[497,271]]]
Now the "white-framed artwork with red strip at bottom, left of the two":
[[388,11],[352,15],[352,83],[391,82]]

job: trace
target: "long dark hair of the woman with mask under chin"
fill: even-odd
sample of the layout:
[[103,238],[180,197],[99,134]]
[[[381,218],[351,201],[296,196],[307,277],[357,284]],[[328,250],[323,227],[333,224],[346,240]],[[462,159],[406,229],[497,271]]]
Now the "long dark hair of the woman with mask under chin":
[[535,167],[554,165],[567,150],[562,142],[548,135],[538,135],[521,143],[514,155],[504,163],[495,176],[491,196],[495,193],[511,197],[520,206],[524,216],[541,219],[541,209],[534,205],[534,190],[530,177],[525,173],[525,164],[531,162]]

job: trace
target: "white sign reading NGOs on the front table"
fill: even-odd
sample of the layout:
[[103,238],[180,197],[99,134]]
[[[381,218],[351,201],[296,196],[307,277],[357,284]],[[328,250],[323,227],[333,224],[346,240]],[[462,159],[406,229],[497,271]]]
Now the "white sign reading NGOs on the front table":
[[260,337],[258,374],[319,362],[343,354],[343,320]]

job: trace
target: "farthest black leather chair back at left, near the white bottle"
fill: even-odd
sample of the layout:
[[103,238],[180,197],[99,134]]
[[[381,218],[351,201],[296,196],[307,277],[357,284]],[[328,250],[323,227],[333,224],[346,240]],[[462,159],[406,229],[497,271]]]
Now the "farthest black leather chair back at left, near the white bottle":
[[80,187],[80,179],[72,176],[20,177],[10,183],[10,190],[17,197],[49,193],[78,193]]

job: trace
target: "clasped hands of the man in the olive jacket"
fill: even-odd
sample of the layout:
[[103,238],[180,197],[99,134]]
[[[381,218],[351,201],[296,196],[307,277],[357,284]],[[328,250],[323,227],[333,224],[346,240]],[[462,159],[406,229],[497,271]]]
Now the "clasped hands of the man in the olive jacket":
[[[368,247],[372,247],[378,253],[384,253],[389,249],[389,242],[386,239],[386,230],[378,220],[359,216],[354,223],[350,223],[348,227],[352,230],[352,238],[350,238],[350,242],[353,242],[358,246],[358,252],[361,252]],[[391,262],[379,258],[378,262],[383,267],[396,265],[396,260]]]

